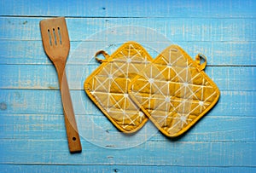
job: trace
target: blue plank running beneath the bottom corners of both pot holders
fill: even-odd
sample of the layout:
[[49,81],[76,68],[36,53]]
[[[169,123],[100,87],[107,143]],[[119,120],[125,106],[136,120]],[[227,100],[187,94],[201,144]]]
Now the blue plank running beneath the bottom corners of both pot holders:
[[[1,140],[65,140],[67,138],[62,114],[2,113],[0,118]],[[124,140],[124,136],[117,134],[118,130],[102,114],[76,115],[76,119],[79,124],[80,136],[86,141],[92,141],[88,133],[94,133],[96,130],[100,131],[97,128],[91,128],[93,125],[101,125],[102,136],[112,136],[111,139],[104,138],[107,140],[106,142],[119,141],[125,143],[134,137],[137,139],[145,139],[145,141],[170,141],[170,139],[163,136],[156,129],[152,130],[154,134],[151,137],[148,136],[145,138],[146,133],[139,131],[133,136],[125,136]],[[237,124],[239,124],[239,126],[237,126]],[[153,126],[153,128],[155,127]],[[52,131],[54,131],[54,133],[51,133]],[[184,136],[174,141],[255,142],[255,131],[255,117],[207,115],[205,118],[202,118],[199,123],[195,124]],[[94,136],[94,138],[100,140],[101,136]],[[100,145],[102,142],[95,143]]]

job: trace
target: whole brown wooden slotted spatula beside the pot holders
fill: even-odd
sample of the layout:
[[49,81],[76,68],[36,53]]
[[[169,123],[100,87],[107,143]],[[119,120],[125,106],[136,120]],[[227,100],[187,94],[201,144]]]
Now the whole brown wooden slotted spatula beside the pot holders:
[[69,151],[78,153],[82,151],[82,147],[65,72],[70,48],[66,20],[64,17],[41,20],[40,28],[44,51],[55,65],[58,73]]

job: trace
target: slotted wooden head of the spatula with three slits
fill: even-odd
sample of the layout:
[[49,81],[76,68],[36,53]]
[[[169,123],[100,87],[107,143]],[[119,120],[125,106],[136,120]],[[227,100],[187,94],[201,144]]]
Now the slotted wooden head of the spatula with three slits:
[[44,51],[49,59],[54,63],[59,60],[66,62],[70,44],[65,18],[41,20],[40,28]]

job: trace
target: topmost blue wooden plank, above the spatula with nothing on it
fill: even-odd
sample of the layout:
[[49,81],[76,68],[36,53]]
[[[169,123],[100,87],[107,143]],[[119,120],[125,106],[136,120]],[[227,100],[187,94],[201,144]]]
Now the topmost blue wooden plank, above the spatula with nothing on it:
[[[29,6],[27,5],[29,4]],[[249,1],[3,1],[0,15],[73,17],[255,17],[255,2]]]

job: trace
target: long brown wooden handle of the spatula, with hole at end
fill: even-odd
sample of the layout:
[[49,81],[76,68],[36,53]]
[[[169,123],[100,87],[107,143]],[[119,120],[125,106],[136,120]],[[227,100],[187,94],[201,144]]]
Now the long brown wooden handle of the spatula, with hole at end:
[[61,88],[61,100],[63,105],[63,112],[67,131],[67,141],[69,151],[71,153],[79,153],[82,151],[79,130],[76,124],[75,115],[73,112],[73,105],[69,88],[67,84],[67,76],[64,70],[62,79],[59,78]]

